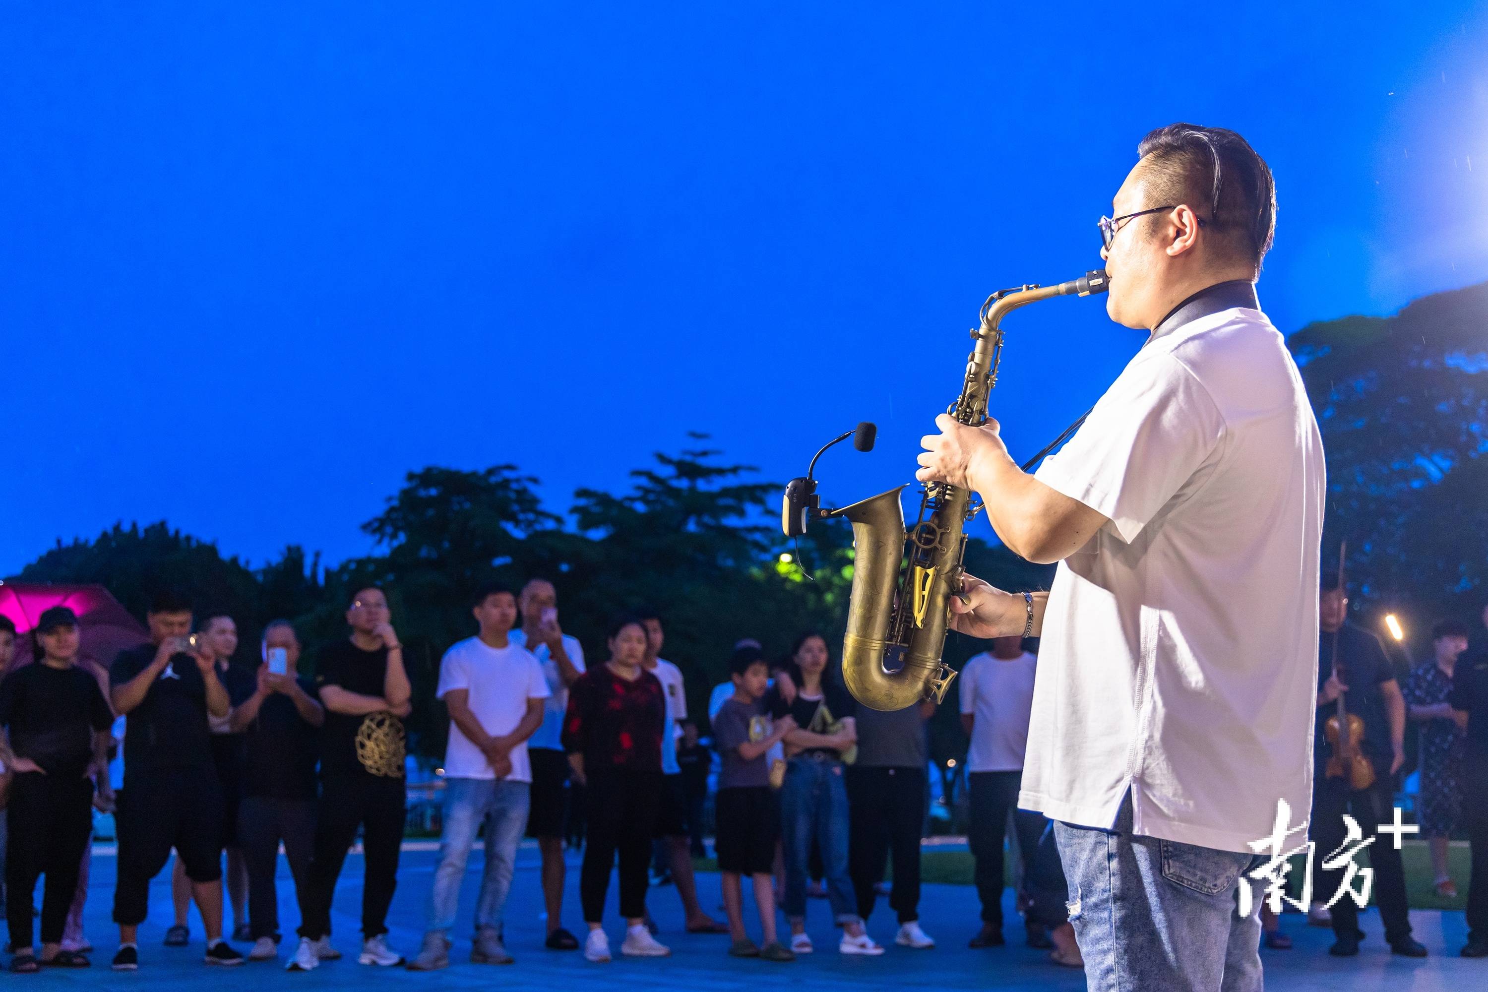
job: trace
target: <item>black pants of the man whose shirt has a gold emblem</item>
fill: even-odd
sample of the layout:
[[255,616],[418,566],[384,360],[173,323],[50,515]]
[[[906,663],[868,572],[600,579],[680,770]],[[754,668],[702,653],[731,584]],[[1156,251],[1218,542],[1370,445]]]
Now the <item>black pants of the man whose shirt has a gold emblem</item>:
[[397,888],[397,855],[403,846],[408,791],[403,778],[371,772],[341,772],[320,779],[315,808],[315,848],[308,885],[299,895],[299,935],[330,935],[330,900],[347,860],[347,849],[362,828],[362,935],[387,933],[387,907]]

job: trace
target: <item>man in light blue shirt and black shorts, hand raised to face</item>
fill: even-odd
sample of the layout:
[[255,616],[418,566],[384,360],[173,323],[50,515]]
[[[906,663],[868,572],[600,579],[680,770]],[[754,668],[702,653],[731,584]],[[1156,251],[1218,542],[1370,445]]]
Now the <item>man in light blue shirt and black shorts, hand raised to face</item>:
[[512,644],[525,647],[543,668],[548,700],[543,726],[527,741],[533,764],[531,805],[527,836],[537,837],[543,857],[543,901],[548,909],[551,950],[577,950],[579,938],[562,928],[564,861],[562,842],[568,818],[568,759],[562,750],[562,721],[568,708],[568,687],[583,674],[583,648],[579,640],[558,626],[558,592],[546,579],[522,586],[518,601],[522,626],[512,631]]

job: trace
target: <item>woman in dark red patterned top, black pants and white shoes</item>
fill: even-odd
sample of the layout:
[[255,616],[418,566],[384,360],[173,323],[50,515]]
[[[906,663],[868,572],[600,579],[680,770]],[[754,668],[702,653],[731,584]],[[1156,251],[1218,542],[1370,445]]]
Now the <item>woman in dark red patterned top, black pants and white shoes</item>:
[[671,950],[646,930],[646,867],[661,796],[667,708],[661,681],[641,668],[646,626],[634,617],[616,620],[609,647],[610,660],[570,687],[562,730],[568,764],[588,791],[588,845],[579,876],[583,919],[589,924],[583,956],[610,959],[601,918],[618,851],[620,916],[626,922],[620,953],[659,958]]

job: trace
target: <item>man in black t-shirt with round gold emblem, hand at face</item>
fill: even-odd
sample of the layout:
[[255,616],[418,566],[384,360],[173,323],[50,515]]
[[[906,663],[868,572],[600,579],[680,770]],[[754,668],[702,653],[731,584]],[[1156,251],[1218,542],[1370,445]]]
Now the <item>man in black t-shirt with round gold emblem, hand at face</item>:
[[330,901],[347,849],[362,828],[362,953],[359,964],[391,967],[403,956],[387,946],[387,909],[397,888],[406,785],[403,717],[412,689],[403,645],[376,586],[359,589],[347,610],[351,637],[320,653],[315,684],[326,708],[320,750],[320,806],[310,885],[301,892],[299,949],[290,971],[341,956],[330,946]]

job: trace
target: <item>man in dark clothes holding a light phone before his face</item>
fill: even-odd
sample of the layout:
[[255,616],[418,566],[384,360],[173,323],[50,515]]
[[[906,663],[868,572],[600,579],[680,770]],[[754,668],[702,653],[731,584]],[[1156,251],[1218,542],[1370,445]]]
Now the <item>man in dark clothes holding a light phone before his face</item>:
[[[317,738],[326,709],[315,684],[298,674],[299,638],[289,620],[263,629],[263,663],[251,696],[232,709],[244,741],[238,842],[248,866],[248,961],[278,956],[278,848],[284,845],[296,894],[310,880],[315,843]],[[310,967],[318,964],[311,958]]]

